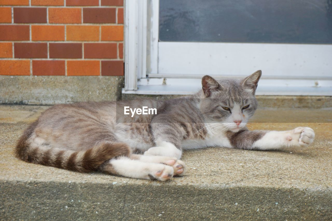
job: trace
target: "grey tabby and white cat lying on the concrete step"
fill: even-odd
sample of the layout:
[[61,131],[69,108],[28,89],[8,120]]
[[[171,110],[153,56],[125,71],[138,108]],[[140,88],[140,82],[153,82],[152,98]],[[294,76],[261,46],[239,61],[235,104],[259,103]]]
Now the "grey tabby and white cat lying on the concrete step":
[[[307,147],[314,131],[249,131],[262,72],[220,81],[206,75],[202,89],[183,99],[82,102],[54,105],[23,133],[16,156],[26,162],[78,172],[100,171],[167,181],[183,176],[182,151],[208,146],[247,150]],[[156,108],[124,115],[123,107]]]

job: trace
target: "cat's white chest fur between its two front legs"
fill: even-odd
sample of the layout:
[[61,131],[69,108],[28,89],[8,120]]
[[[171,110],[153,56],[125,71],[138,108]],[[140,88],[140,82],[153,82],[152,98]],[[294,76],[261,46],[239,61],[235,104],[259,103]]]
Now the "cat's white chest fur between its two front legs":
[[228,147],[231,144],[228,138],[223,134],[208,134],[205,139],[187,139],[182,141],[182,147],[185,150],[198,149],[204,147]]

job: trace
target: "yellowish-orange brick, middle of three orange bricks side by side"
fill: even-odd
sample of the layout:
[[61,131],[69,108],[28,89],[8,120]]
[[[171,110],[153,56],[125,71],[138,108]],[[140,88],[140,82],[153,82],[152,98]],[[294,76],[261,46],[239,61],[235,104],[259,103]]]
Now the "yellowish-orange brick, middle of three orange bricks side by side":
[[68,41],[98,41],[99,26],[90,25],[68,25],[67,26]]

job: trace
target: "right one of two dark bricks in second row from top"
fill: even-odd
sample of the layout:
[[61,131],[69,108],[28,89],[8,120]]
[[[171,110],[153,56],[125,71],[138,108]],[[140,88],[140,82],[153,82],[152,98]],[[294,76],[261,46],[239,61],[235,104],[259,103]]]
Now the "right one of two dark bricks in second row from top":
[[115,8],[83,8],[83,23],[116,23]]

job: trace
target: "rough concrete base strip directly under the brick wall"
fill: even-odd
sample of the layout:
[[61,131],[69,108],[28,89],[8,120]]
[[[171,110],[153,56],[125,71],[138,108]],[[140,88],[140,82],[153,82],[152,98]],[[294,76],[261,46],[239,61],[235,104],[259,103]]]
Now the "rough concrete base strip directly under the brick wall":
[[123,84],[123,76],[0,76],[0,104],[116,100]]

